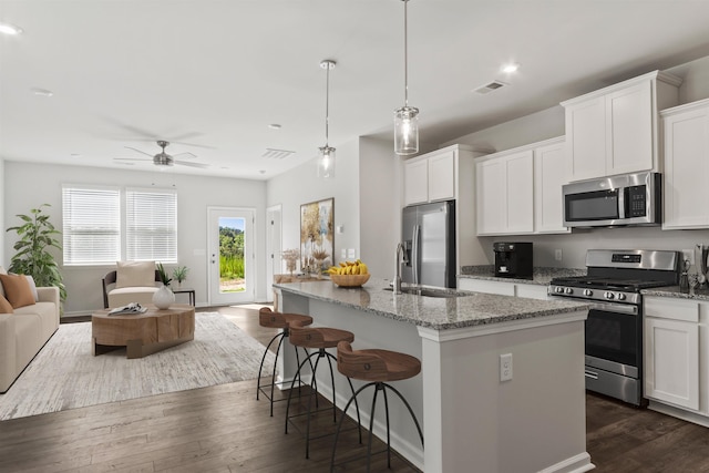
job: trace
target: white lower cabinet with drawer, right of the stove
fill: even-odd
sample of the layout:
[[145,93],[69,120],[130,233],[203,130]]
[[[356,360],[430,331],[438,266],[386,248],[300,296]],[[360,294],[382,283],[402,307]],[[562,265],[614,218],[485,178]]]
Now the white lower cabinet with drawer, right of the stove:
[[[709,305],[645,297],[645,397],[705,415],[709,360],[700,357],[700,321]],[[703,317],[700,319],[700,313]],[[702,330],[703,332],[703,330]],[[705,399],[701,402],[701,399]]]

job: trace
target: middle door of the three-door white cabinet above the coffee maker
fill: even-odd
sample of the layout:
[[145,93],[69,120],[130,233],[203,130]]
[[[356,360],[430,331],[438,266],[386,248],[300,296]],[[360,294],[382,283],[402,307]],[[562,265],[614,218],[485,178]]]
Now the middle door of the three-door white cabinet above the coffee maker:
[[505,158],[505,233],[534,232],[534,160],[532,151]]

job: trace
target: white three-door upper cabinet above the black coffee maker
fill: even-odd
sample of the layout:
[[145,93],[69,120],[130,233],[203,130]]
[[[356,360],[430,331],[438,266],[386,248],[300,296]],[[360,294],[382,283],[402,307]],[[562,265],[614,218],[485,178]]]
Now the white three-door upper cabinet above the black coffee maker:
[[477,235],[568,233],[563,137],[477,158],[475,173]]

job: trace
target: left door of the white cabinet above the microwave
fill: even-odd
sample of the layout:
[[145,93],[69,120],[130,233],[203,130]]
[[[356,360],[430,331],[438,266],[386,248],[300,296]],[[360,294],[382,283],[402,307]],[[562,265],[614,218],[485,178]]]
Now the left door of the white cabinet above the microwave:
[[566,107],[566,150],[572,181],[606,175],[605,96]]

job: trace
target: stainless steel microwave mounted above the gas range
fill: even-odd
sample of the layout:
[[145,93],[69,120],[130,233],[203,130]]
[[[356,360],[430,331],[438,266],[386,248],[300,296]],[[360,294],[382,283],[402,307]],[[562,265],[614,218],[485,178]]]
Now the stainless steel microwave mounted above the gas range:
[[564,185],[564,225],[615,227],[661,223],[659,173],[636,173]]

